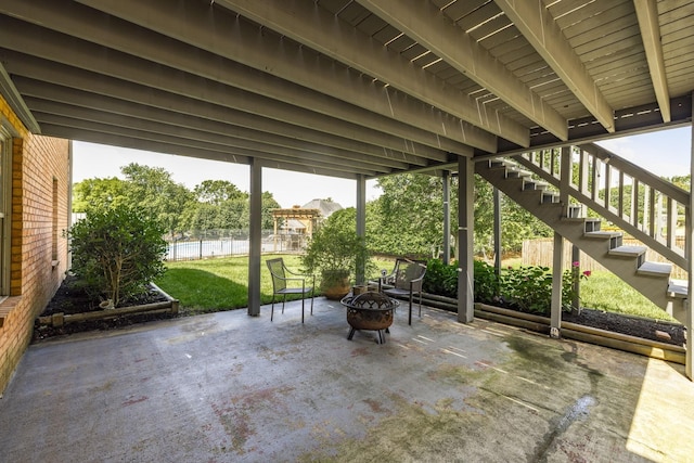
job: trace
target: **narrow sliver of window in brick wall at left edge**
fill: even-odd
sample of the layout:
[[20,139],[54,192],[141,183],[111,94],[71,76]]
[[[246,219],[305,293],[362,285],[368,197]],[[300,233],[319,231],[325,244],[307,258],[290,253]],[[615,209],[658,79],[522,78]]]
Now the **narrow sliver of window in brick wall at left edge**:
[[0,297],[10,293],[12,137],[0,124]]

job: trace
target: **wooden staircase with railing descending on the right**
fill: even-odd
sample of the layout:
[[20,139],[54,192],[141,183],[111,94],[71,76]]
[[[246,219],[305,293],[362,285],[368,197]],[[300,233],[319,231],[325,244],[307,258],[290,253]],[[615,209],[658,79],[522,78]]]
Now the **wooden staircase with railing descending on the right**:
[[[629,172],[626,180],[625,167]],[[653,181],[654,176],[650,172],[593,144],[479,162],[475,171],[674,319],[687,324],[684,304],[687,297],[686,281],[670,278],[672,263],[645,259],[646,250],[651,247],[678,266],[689,268],[684,249],[678,249],[674,245],[677,217],[668,217],[671,227],[664,235],[655,223],[657,217],[654,210],[648,208],[641,214],[642,219],[646,217],[644,226],[643,220],[639,220],[637,209],[643,204],[631,206],[625,198],[611,198],[605,191],[617,184],[614,180],[617,177],[613,177],[617,173],[619,191],[631,190],[632,200],[635,198],[634,202],[638,203],[639,189],[645,189],[642,197],[650,198],[652,207],[658,205],[674,216],[678,208],[682,210],[684,206],[689,206],[687,192],[658,178]],[[602,194],[599,193],[601,177]],[[624,188],[625,181],[629,182],[631,189]],[[615,203],[617,207],[614,206]],[[626,213],[621,207],[625,204],[629,208]],[[584,217],[586,205],[648,246],[625,245],[622,232],[601,230],[601,219]],[[663,205],[666,206],[661,207]]]

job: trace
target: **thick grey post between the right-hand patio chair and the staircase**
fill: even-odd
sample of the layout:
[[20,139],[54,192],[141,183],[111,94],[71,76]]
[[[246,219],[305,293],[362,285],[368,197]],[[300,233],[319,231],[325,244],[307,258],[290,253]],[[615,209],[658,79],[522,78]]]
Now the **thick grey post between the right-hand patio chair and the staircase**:
[[470,157],[458,158],[458,321],[470,323],[475,317],[473,232],[475,165]]

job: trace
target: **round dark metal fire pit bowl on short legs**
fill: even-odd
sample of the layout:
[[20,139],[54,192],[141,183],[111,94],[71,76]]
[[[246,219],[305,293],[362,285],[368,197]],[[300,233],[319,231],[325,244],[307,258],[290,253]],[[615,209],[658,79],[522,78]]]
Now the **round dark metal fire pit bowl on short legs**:
[[351,326],[347,339],[351,340],[357,330],[371,330],[378,334],[376,343],[385,344],[385,333],[393,324],[397,300],[376,291],[368,291],[358,296],[348,294],[340,304],[347,308],[347,323]]

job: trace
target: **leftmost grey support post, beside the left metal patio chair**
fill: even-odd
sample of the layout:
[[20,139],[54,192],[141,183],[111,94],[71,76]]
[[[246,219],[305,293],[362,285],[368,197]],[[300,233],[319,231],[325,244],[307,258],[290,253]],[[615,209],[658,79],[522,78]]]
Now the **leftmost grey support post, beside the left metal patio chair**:
[[260,316],[260,255],[262,252],[262,166],[250,159],[250,221],[248,223],[248,314]]

